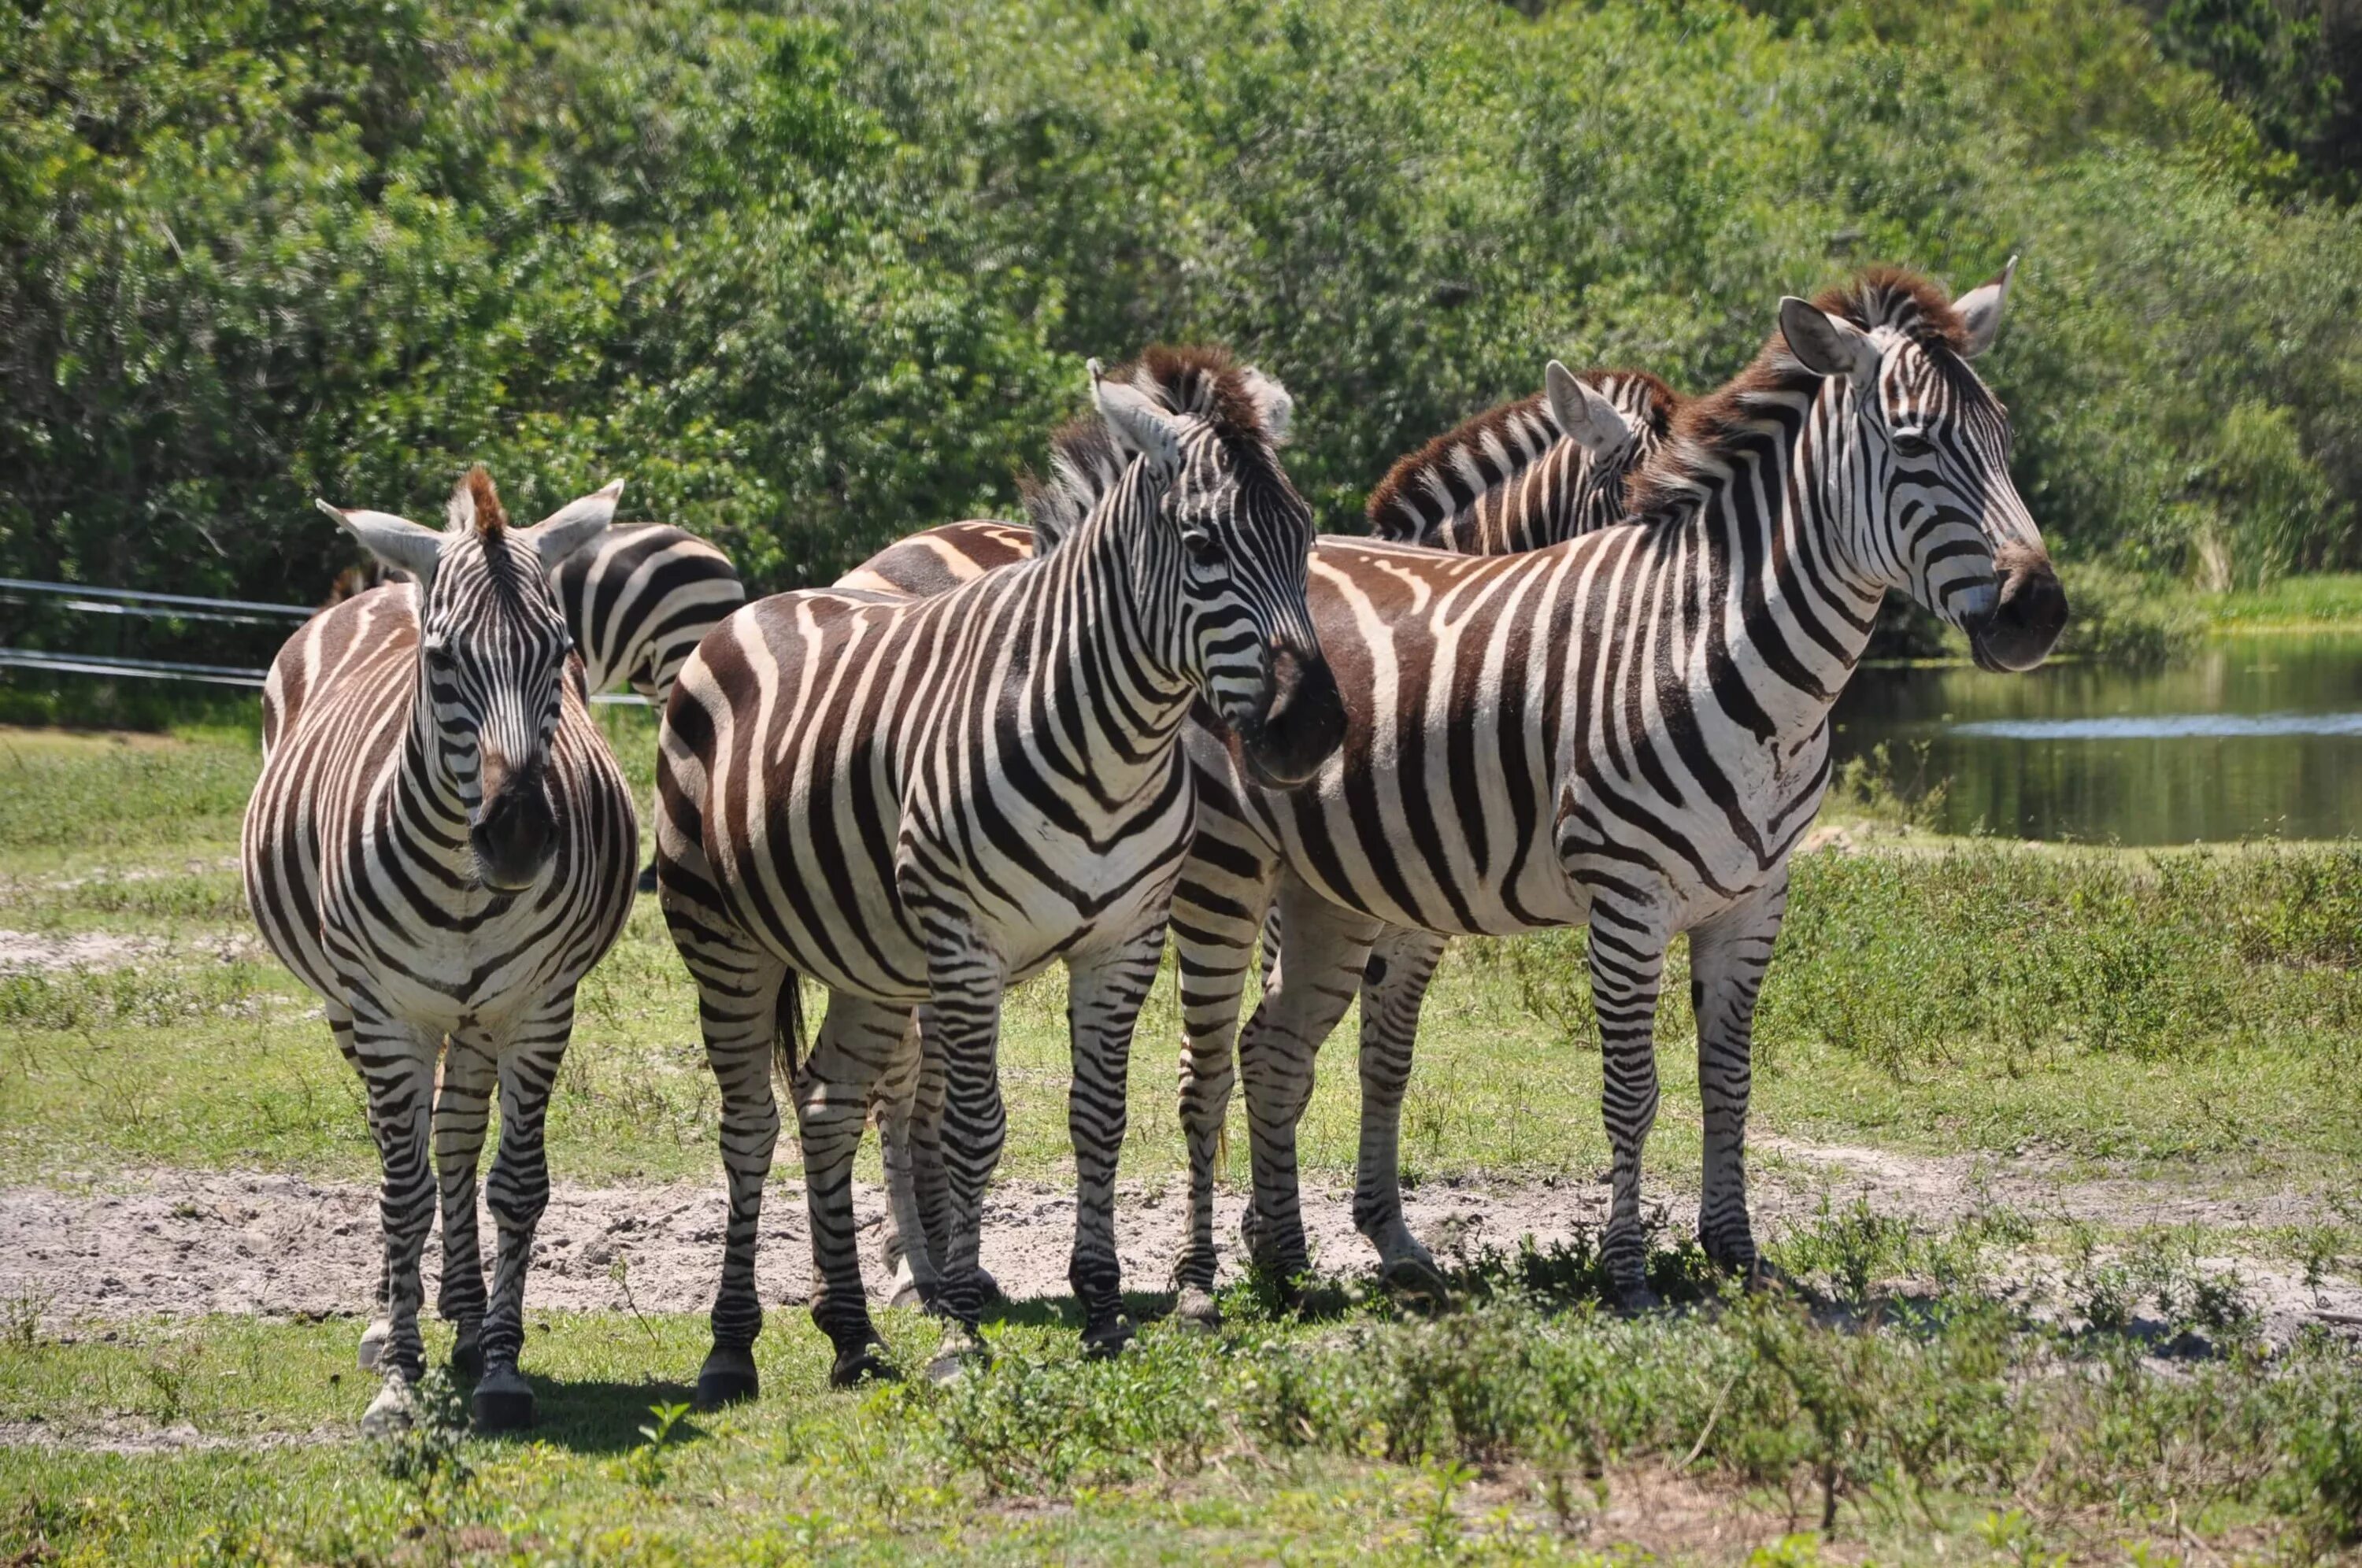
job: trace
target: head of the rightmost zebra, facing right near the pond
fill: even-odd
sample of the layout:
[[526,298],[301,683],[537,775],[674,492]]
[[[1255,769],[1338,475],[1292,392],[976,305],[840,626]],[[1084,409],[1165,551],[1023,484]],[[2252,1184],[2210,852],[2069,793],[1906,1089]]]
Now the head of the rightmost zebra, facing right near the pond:
[[1873,272],[1779,314],[1788,354],[1823,378],[1814,423],[1835,439],[1821,477],[1849,564],[1965,631],[1989,671],[2034,668],[2067,626],[2067,590],[2010,482],[2010,416],[1968,366],[2001,331],[2015,269],[1953,302]]

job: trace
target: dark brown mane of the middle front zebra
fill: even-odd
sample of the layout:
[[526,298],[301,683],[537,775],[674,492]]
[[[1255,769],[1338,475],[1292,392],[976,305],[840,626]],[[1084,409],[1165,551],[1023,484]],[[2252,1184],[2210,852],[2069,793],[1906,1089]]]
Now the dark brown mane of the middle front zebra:
[[[1273,449],[1287,439],[1287,390],[1231,359],[1221,347],[1150,347],[1103,380],[1129,380],[1169,413],[1188,413],[1214,432],[1245,472],[1285,484]],[[1094,413],[1068,420],[1049,439],[1049,479],[1018,477],[1025,522],[1035,531],[1035,555],[1046,555],[1072,534],[1117,479],[1131,451]]]

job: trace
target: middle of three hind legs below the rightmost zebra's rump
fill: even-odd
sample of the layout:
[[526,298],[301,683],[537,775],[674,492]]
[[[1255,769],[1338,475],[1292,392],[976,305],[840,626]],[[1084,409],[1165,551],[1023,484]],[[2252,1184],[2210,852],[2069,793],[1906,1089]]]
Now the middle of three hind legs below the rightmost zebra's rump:
[[1313,1098],[1313,1060],[1351,1006],[1370,945],[1384,926],[1330,904],[1292,878],[1280,883],[1278,914],[1287,940],[1268,971],[1261,1006],[1238,1037],[1238,1077],[1247,1091],[1254,1164],[1247,1254],[1257,1268],[1290,1280],[1311,1263],[1297,1181],[1297,1122]]

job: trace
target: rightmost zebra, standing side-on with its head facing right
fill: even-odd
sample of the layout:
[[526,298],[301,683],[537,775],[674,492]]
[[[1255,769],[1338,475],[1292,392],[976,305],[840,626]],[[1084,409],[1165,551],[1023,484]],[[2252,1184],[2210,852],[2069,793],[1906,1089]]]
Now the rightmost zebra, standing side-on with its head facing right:
[[[1684,930],[1705,1100],[1698,1233],[1717,1263],[1753,1268],[1755,994],[1788,852],[1828,782],[1828,711],[1878,605],[1908,593],[1968,631],[1989,671],[2041,664],[2067,621],[2010,484],[2008,418],[1968,366],[1994,342],[2008,279],[1953,305],[1878,269],[1819,302],[1783,300],[1755,364],[1686,404],[1632,479],[1630,524],[1498,560],[1346,541],[1316,553],[1313,621],[1353,675],[1337,758],[1275,793],[1193,749],[1226,777],[1202,779],[1172,914],[1200,1086],[1186,1103],[1183,1285],[1212,1285],[1231,1025],[1273,897],[1285,942],[1238,1041],[1257,1263],[1306,1263],[1294,1129],[1313,1053],[1356,987],[1396,980],[1386,954],[1372,963],[1382,933],[1590,926],[1613,1148],[1601,1252],[1618,1296],[1649,1299],[1642,1143],[1658,1103],[1658,980]],[[1415,1249],[1394,1150],[1372,1150],[1365,1124],[1361,1155],[1356,1221],[1391,1268]],[[1382,1202],[1391,1219],[1372,1214]]]

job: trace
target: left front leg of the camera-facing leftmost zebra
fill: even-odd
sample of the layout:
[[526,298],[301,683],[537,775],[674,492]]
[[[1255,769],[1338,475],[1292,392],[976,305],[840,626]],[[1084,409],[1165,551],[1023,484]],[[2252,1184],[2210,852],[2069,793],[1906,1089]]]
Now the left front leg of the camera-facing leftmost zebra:
[[361,1415],[364,1436],[383,1436],[411,1424],[411,1384],[425,1374],[425,1339],[418,1334],[418,1254],[435,1226],[435,1171],[430,1129],[435,1119],[435,1056],[442,1041],[394,1018],[354,1015],[354,1060],[368,1086],[368,1126],[378,1138],[378,1219],[385,1226],[387,1339],[378,1358],[385,1386]]

